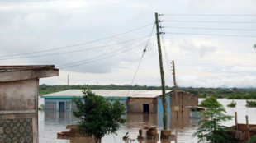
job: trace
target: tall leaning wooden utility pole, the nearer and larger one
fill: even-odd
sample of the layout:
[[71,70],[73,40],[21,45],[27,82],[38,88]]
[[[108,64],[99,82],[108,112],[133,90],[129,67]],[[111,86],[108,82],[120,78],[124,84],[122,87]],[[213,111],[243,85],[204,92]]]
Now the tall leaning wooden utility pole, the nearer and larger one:
[[164,68],[163,68],[163,60],[162,60],[162,50],[161,50],[161,41],[160,41],[160,33],[159,33],[159,14],[155,12],[155,25],[156,25],[156,35],[158,39],[158,48],[159,48],[159,65],[160,65],[160,74],[161,74],[161,83],[162,83],[162,104],[164,108],[164,130],[168,129],[167,125],[167,102],[166,102],[166,95],[165,95],[165,83],[164,83]]

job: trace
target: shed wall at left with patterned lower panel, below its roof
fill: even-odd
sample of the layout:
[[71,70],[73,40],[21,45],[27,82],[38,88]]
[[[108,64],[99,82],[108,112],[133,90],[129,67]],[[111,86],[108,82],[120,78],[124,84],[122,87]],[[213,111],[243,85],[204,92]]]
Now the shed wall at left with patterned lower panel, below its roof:
[[0,142],[38,142],[38,84],[38,79],[0,82]]

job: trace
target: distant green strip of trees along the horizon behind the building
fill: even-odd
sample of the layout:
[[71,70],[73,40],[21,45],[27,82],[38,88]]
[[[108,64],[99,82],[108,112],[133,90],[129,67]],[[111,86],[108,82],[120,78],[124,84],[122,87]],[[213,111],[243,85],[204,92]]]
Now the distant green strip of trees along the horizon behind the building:
[[[39,95],[46,95],[61,90],[161,90],[161,86],[147,85],[40,85]],[[166,86],[166,90],[173,90],[173,87]],[[178,87],[178,90],[183,90],[194,95],[199,95],[199,98],[215,96],[217,98],[227,99],[256,99],[256,89],[239,89],[239,88],[192,88]]]

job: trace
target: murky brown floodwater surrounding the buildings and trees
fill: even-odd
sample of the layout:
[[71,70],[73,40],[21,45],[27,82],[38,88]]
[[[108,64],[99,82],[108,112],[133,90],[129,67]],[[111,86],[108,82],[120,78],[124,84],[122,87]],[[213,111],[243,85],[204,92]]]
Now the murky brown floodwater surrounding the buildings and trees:
[[[201,101],[202,99],[199,99]],[[249,116],[249,123],[256,124],[256,108],[245,107],[245,100],[235,100],[236,107],[229,108],[226,107],[227,104],[231,102],[228,99],[218,99],[218,101],[224,105],[227,114],[234,115],[235,111],[238,113],[238,122],[245,123],[245,115]],[[117,131],[116,135],[108,135],[102,138],[102,143],[126,143],[122,141],[122,136],[129,132],[130,139],[135,139],[135,141],[129,141],[133,143],[189,143],[197,142],[197,138],[192,138],[192,134],[197,130],[198,119],[190,119],[189,115],[179,115],[177,120],[175,113],[171,114],[169,117],[168,127],[172,130],[171,141],[154,141],[154,140],[144,140],[137,141],[137,136],[139,134],[139,129],[144,126],[158,127],[158,132],[163,129],[163,115],[157,114],[126,114],[126,123],[121,126],[121,129]],[[40,143],[80,143],[80,142],[93,142],[92,139],[84,138],[70,138],[67,139],[57,139],[57,132],[67,131],[66,126],[70,124],[77,124],[78,119],[73,117],[71,112],[39,112],[39,141]],[[235,119],[229,122],[223,122],[225,126],[231,126],[235,124]]]

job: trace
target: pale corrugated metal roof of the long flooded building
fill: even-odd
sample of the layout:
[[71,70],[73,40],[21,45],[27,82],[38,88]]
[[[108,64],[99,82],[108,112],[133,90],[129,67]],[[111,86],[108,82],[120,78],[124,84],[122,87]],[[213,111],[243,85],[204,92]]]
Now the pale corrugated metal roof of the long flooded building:
[[[64,90],[48,95],[43,95],[47,98],[49,96],[83,96],[83,90]],[[167,90],[166,93],[171,90]],[[154,98],[162,95],[162,90],[92,90],[97,95],[107,97],[138,97],[138,98]],[[129,92],[129,94],[128,94]],[[128,94],[128,95],[127,95]]]

